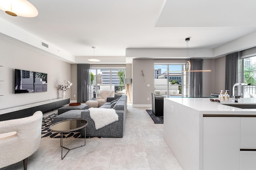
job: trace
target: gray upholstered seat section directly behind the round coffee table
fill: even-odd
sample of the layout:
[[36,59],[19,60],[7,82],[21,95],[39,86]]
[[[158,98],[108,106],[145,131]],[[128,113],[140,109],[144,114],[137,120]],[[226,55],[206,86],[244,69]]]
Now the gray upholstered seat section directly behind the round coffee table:
[[81,119],[81,112],[83,110],[70,110],[61,115],[54,117],[53,123],[57,123],[60,121],[66,121],[68,119]]

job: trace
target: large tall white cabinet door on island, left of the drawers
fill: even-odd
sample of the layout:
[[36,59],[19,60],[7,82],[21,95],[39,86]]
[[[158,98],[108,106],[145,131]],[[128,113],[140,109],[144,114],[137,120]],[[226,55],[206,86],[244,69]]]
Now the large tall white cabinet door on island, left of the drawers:
[[240,169],[240,117],[204,117],[203,170]]

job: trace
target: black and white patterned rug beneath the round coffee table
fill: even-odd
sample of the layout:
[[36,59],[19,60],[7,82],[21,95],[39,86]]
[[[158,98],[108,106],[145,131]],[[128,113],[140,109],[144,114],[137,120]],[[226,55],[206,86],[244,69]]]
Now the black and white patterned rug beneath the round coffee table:
[[[52,132],[50,130],[50,126],[53,124],[54,117],[58,116],[58,113],[54,113],[52,115],[49,115],[47,117],[43,117],[42,120],[42,138],[60,138],[59,132]],[[63,133],[63,138],[84,138],[84,136],[81,136],[80,132],[67,132]],[[86,137],[86,138],[92,138],[92,137]]]

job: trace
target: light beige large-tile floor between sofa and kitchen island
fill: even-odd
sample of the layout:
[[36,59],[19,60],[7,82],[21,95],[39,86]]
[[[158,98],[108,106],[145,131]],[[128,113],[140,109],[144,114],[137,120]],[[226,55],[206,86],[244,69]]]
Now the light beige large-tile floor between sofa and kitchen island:
[[[42,138],[38,150],[28,158],[28,170],[182,170],[164,142],[163,124],[154,124],[146,109],[151,108],[128,105],[123,138],[86,138],[86,146],[70,150],[63,160],[60,139]],[[83,142],[66,139],[64,146]],[[1,170],[23,170],[23,162]]]

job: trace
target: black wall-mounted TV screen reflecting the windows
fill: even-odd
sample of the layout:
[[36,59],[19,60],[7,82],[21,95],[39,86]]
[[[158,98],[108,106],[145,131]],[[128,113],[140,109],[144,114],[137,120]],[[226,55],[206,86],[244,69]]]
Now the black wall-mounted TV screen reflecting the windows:
[[47,91],[47,74],[15,69],[14,91],[14,93],[34,93]]

